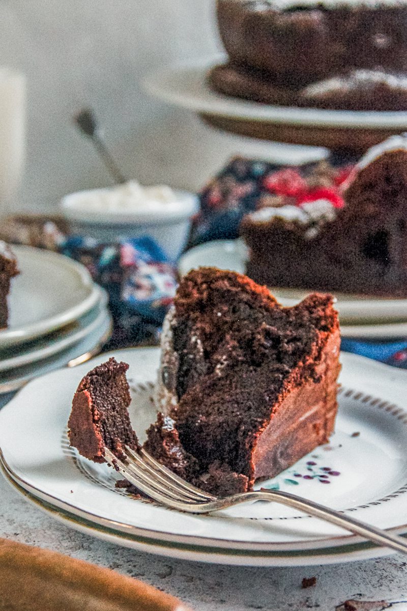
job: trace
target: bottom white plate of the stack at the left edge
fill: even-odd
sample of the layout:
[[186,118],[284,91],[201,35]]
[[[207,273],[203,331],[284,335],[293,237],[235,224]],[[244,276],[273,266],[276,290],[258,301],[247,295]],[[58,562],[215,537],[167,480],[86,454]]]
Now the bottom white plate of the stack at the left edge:
[[20,389],[32,378],[48,373],[48,371],[54,371],[60,367],[65,367],[65,365],[74,367],[74,365],[85,362],[100,352],[111,332],[112,318],[105,309],[96,329],[92,327],[92,330],[74,345],[58,351],[52,356],[43,357],[36,362],[0,371],[0,394]]

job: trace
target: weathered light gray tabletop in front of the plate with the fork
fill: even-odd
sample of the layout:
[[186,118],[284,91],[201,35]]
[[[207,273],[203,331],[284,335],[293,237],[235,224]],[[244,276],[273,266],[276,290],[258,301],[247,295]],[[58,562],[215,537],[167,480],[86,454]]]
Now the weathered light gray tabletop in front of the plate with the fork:
[[[0,405],[4,399],[0,398]],[[20,496],[1,475],[0,536],[137,577],[178,596],[196,611],[331,611],[350,598],[406,601],[391,608],[407,610],[407,556],[397,554],[365,562],[308,568],[250,568],[173,560],[105,543],[68,529]],[[303,577],[313,576],[317,577],[317,584],[302,589]]]

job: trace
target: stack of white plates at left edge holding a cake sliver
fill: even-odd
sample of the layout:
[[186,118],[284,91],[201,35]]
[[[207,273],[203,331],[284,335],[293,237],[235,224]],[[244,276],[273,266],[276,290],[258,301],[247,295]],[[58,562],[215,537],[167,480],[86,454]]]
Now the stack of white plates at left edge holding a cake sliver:
[[0,393],[96,354],[109,338],[107,294],[68,257],[13,246],[20,274],[12,280],[9,326],[0,331]]

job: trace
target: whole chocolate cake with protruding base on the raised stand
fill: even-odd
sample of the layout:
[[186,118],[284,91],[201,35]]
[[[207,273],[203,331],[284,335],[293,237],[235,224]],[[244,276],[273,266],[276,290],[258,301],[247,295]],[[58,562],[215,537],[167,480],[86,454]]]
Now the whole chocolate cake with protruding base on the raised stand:
[[404,0],[217,0],[217,19],[229,56],[209,74],[219,92],[269,104],[407,108]]

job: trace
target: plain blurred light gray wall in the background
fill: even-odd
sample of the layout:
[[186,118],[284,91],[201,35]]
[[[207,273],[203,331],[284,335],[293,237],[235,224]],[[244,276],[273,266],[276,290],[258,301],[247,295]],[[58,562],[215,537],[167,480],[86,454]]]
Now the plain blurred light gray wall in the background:
[[298,158],[297,147],[219,133],[143,92],[140,81],[151,71],[222,48],[214,4],[0,1],[0,65],[27,76],[27,154],[18,208],[51,211],[68,192],[110,184],[90,142],[71,122],[83,106],[95,109],[124,174],[144,184],[199,189],[236,153]]

